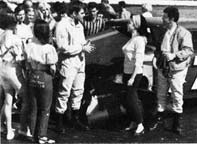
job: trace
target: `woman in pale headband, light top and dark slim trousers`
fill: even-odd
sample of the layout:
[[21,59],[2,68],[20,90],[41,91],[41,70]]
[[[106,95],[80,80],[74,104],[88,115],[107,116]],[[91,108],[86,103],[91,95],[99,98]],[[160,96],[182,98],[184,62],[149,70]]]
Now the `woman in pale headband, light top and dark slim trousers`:
[[132,16],[128,30],[132,37],[122,48],[125,55],[123,83],[128,89],[126,108],[131,123],[125,130],[132,130],[137,124],[134,135],[141,135],[144,133],[144,126],[137,91],[143,75],[143,61],[148,35],[145,18],[141,15]]

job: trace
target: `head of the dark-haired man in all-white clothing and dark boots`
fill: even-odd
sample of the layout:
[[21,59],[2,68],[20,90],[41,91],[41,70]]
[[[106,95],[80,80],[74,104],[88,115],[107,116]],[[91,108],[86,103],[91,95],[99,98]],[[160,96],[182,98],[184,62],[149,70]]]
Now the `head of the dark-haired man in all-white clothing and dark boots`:
[[69,6],[69,16],[73,18],[75,21],[83,21],[85,16],[85,7],[84,4],[81,2],[71,4]]

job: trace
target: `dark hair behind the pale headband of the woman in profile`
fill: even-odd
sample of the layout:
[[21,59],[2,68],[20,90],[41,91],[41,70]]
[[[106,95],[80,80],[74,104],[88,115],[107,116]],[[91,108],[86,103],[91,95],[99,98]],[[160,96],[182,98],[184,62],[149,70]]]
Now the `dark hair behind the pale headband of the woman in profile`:
[[141,36],[146,36],[148,37],[149,33],[148,33],[148,26],[147,26],[147,22],[146,22],[146,19],[144,18],[144,16],[140,15],[140,18],[141,18],[141,25],[139,28],[137,28],[137,31],[138,33],[141,35]]

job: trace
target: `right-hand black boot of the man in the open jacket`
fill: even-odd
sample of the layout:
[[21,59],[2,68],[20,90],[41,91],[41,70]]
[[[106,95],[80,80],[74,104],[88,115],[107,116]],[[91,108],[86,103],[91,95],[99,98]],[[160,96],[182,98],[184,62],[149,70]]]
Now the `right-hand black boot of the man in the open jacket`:
[[174,117],[173,117],[173,124],[172,124],[172,131],[178,135],[183,135],[183,130],[182,130],[182,126],[181,126],[181,119],[182,116],[179,113],[174,113]]

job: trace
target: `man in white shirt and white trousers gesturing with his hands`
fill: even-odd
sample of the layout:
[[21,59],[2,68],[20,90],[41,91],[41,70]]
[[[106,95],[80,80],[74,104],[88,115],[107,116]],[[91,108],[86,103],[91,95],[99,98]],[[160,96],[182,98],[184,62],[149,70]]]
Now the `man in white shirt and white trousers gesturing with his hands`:
[[83,21],[83,3],[71,4],[67,18],[62,18],[56,27],[57,51],[59,52],[59,90],[56,101],[58,113],[57,127],[63,128],[63,114],[67,110],[70,98],[73,110],[73,122],[78,128],[87,129],[80,122],[79,109],[84,92],[85,52],[90,53],[94,47],[85,40]]

